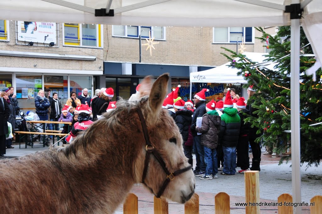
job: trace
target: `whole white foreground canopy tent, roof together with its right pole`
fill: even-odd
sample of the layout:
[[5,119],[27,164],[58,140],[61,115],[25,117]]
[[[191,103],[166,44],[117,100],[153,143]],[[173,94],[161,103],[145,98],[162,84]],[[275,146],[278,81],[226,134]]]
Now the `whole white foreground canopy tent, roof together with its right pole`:
[[[95,17],[99,8],[114,16]],[[300,19],[301,14],[304,19]],[[146,26],[291,25],[292,195],[293,202],[301,202],[300,20],[318,61],[316,69],[322,61],[322,0],[1,0],[0,19]],[[294,212],[301,213],[301,207]]]

